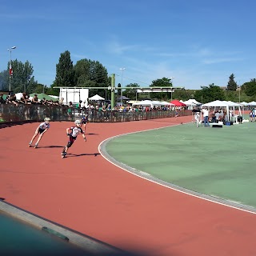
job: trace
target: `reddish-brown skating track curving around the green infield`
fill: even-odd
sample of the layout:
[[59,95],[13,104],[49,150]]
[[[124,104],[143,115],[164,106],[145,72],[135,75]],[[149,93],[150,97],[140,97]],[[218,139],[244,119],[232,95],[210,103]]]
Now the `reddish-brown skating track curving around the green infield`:
[[[61,158],[66,128],[51,122],[38,149],[38,123],[0,130],[0,197],[122,250],[146,255],[256,255],[256,215],[138,178],[98,154],[106,138],[190,122],[191,117],[89,123]],[[97,154],[94,156],[94,154]]]

